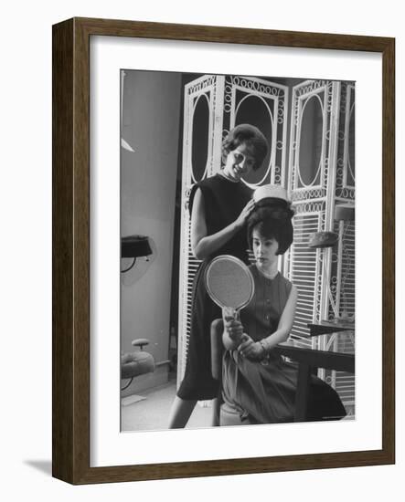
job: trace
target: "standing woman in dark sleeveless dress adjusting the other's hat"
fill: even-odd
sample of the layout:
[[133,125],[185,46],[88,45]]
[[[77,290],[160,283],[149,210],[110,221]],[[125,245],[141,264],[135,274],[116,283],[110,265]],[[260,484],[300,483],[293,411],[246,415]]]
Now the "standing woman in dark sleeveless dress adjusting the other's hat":
[[210,326],[221,312],[208,297],[204,272],[218,255],[248,263],[245,222],[254,202],[241,177],[261,167],[268,149],[261,131],[240,124],[222,143],[220,173],[195,184],[190,193],[191,247],[203,261],[194,279],[186,371],[170,413],[170,428],[185,427],[197,401],[218,397],[218,381],[211,374]]

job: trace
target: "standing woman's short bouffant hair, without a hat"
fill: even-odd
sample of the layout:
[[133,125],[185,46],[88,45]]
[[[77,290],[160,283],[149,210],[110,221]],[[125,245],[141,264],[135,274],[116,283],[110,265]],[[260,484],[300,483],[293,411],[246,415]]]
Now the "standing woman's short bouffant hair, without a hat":
[[224,161],[228,153],[238,148],[242,143],[246,143],[253,149],[256,161],[253,169],[259,169],[267,152],[269,152],[269,143],[264,134],[257,127],[250,124],[240,124],[229,131],[225,140],[222,141],[222,160]]

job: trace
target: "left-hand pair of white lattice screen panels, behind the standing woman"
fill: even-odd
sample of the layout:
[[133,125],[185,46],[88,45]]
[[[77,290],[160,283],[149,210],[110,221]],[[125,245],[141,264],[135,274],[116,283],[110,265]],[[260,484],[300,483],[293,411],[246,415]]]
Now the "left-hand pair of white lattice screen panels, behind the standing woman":
[[[271,147],[262,168],[250,173],[243,182],[252,188],[263,183],[284,183],[287,108],[288,88],[262,78],[207,75],[190,82],[185,88],[177,382],[181,382],[186,369],[192,284],[199,265],[190,246],[187,204],[191,187],[218,172],[222,140],[240,123],[258,127]],[[203,121],[196,119],[197,112]],[[200,143],[198,150],[201,151],[201,136],[207,152],[202,164],[199,157],[193,155],[196,141]],[[197,160],[200,165],[196,169]]]

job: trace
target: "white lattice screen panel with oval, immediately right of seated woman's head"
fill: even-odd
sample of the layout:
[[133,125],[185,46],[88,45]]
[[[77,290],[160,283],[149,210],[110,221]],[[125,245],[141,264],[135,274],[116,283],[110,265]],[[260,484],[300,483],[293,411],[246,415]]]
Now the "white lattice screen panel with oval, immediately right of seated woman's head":
[[292,337],[296,345],[316,348],[308,322],[325,318],[325,277],[330,252],[308,246],[310,235],[330,229],[331,193],[336,173],[336,114],[339,86],[306,80],[293,87],[288,189],[296,215],[294,244],[287,256],[289,278],[297,286],[298,308]]

